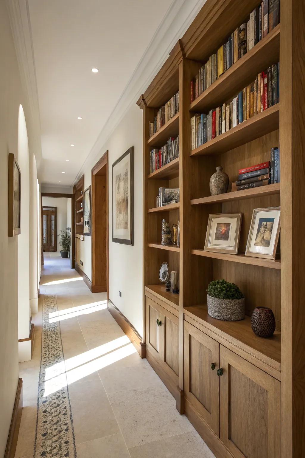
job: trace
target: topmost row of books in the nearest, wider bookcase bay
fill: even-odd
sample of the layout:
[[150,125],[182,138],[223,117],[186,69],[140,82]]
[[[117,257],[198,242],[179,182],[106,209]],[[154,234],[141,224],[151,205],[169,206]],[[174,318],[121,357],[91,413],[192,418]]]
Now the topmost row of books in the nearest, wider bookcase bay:
[[209,57],[191,82],[191,103],[279,23],[279,0],[263,0],[248,22],[241,24]]

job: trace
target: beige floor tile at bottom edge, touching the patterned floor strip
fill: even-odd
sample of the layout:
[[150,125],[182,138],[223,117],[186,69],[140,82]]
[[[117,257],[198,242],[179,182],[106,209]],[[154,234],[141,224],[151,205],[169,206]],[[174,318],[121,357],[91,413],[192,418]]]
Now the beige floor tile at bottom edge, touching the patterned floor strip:
[[83,442],[76,447],[77,458],[130,458],[121,433]]

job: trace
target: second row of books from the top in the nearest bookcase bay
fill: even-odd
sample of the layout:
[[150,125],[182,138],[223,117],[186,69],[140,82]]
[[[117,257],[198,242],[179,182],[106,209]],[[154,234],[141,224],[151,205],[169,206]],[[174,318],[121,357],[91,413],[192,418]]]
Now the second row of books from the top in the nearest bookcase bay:
[[279,102],[279,62],[257,75],[254,82],[228,104],[195,114],[191,119],[191,148],[198,148],[232,127]]

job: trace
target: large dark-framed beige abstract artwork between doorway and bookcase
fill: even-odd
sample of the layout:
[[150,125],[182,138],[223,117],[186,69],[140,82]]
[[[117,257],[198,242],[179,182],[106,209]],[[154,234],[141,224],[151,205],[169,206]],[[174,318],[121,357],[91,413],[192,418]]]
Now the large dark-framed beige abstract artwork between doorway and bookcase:
[[134,245],[134,147],[112,164],[112,242]]

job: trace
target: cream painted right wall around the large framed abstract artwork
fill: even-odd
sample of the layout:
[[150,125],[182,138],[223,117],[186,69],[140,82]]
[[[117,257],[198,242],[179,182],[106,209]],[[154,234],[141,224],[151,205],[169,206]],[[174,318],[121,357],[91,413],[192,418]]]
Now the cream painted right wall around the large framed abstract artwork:
[[[134,246],[112,243],[112,164],[128,150],[134,147]],[[109,156],[109,299],[118,307],[126,318],[143,335],[142,324],[142,110],[134,103],[124,115],[119,125],[112,132],[100,154],[92,161],[87,161],[84,173],[84,189],[91,185],[91,168],[108,150]],[[91,279],[91,237],[77,239],[76,261],[81,259],[83,270]],[[81,266],[80,266],[81,267]],[[118,291],[122,292],[122,297]]]

